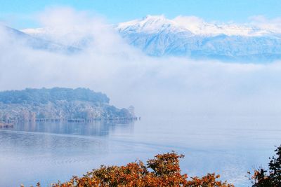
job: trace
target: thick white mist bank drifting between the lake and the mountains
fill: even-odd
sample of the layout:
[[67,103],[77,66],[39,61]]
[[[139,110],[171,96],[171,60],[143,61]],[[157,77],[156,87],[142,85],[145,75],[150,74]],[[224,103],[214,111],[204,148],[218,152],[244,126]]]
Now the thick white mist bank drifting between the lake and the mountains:
[[73,54],[36,50],[1,28],[1,90],[90,88],[112,105],[135,106],[138,116],[281,114],[281,62],[149,57],[100,16],[48,8],[36,19],[48,29],[46,39],[86,47]]

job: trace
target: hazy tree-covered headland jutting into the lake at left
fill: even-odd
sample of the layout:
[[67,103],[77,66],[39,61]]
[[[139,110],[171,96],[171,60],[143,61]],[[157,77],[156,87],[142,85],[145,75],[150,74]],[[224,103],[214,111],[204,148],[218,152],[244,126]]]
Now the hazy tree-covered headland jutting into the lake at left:
[[0,92],[0,121],[101,120],[133,118],[109,104],[103,93],[86,88],[41,88]]

